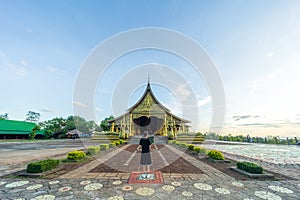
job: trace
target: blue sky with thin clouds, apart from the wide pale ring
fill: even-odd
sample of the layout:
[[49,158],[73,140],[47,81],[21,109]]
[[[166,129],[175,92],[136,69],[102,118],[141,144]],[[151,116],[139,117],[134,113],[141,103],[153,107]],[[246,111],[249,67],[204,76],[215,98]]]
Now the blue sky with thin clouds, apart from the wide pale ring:
[[[85,108],[73,94],[91,52],[124,31],[159,27],[192,38],[213,61],[226,100],[222,134],[299,137],[299,11],[296,0],[0,0],[0,114],[24,120],[32,110],[42,121]],[[138,81],[126,84],[135,73]],[[124,113],[142,96],[148,75],[163,105],[192,121],[192,131],[209,131],[214,99],[206,77],[157,49],[111,63],[94,92],[95,120]],[[185,99],[193,100],[191,110]]]

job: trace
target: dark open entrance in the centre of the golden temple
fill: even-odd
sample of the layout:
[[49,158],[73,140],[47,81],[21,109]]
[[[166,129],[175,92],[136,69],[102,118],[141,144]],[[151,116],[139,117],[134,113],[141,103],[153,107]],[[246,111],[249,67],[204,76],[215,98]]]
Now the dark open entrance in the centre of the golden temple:
[[161,135],[164,120],[155,116],[141,116],[133,119],[136,133],[143,134],[148,131],[149,135]]

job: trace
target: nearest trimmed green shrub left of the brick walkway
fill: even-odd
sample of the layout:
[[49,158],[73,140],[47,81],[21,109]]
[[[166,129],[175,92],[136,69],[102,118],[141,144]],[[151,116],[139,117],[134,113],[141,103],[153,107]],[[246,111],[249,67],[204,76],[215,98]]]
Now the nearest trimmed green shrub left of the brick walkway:
[[54,169],[58,164],[59,164],[59,160],[53,160],[53,159],[31,162],[27,165],[26,171],[28,173],[41,173],[44,171]]

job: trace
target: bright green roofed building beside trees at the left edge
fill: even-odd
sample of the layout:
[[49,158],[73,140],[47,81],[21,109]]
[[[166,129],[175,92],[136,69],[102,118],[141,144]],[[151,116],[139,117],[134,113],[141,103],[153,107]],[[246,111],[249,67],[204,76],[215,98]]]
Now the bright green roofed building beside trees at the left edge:
[[[32,122],[0,120],[0,139],[27,139],[36,126]],[[36,138],[43,138],[44,131],[38,131]]]

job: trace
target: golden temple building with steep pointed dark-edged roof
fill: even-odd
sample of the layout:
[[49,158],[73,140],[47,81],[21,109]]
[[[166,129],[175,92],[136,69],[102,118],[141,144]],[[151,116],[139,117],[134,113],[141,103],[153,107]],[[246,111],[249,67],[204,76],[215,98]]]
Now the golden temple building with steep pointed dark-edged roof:
[[168,136],[187,133],[190,121],[182,119],[163,106],[152,92],[148,81],[146,90],[139,101],[123,115],[108,121],[112,132],[124,132],[129,136],[149,134]]

